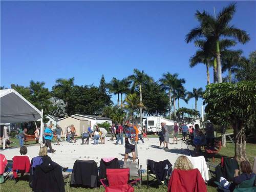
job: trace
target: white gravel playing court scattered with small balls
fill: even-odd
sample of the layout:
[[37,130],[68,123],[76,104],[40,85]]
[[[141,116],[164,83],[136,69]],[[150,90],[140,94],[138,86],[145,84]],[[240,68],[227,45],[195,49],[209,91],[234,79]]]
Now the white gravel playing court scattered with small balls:
[[[169,151],[158,148],[159,139],[149,138],[145,140],[145,143],[138,143],[138,157],[142,169],[146,169],[146,159],[152,159],[154,161],[161,161],[168,159],[170,163],[174,165],[176,159],[180,155],[189,155],[187,145],[181,141],[178,144],[169,144]],[[106,138],[108,140],[108,138]],[[120,141],[119,141],[120,142]],[[52,145],[55,150],[54,154],[48,155],[53,161],[57,162],[61,166],[68,166],[73,168],[73,164],[76,159],[80,160],[95,160],[99,165],[102,157],[117,157],[121,160],[124,157],[124,145],[115,145],[115,142],[106,141],[106,144],[93,145],[90,141],[89,145],[80,145],[81,139],[78,139],[76,143],[60,142],[61,145]],[[33,158],[38,155],[39,145],[28,146],[28,155]],[[19,148],[11,148],[1,152],[8,160],[13,156],[19,155]]]

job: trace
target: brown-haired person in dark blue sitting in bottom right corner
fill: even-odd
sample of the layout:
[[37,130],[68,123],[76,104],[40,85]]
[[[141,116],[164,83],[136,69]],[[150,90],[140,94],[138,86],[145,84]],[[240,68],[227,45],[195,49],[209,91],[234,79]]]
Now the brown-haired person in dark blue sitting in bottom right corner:
[[220,184],[223,188],[233,191],[234,188],[237,187],[249,188],[254,186],[254,182],[256,182],[256,175],[252,172],[250,162],[241,161],[240,167],[242,174],[239,175],[240,170],[235,169],[233,183],[230,184],[224,177],[220,178]]

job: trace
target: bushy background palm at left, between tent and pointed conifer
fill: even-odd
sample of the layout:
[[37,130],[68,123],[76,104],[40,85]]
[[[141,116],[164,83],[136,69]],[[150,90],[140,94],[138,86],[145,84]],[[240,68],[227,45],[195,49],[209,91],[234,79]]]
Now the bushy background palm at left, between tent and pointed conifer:
[[66,111],[69,114],[69,101],[72,88],[74,87],[74,77],[69,79],[58,78],[55,86],[52,88],[54,96],[63,99],[66,102]]

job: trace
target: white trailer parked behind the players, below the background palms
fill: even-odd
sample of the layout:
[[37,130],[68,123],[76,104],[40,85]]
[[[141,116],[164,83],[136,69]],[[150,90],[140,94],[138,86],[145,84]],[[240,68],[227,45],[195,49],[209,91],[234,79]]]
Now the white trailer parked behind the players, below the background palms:
[[145,124],[148,133],[156,133],[161,131],[161,122],[165,122],[166,125],[174,125],[175,121],[165,119],[158,116],[150,116],[145,119]]

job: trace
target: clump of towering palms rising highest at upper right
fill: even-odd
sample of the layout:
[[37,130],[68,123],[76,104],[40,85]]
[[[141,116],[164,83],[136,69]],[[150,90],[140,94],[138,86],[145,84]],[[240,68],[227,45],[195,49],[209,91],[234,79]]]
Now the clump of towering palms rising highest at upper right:
[[207,84],[210,83],[209,67],[214,68],[214,83],[222,82],[222,72],[226,70],[231,81],[231,73],[234,72],[232,68],[239,66],[243,60],[241,50],[228,49],[235,46],[237,41],[245,44],[250,40],[245,31],[230,25],[235,12],[235,3],[223,8],[216,16],[210,15],[205,10],[197,11],[196,18],[199,25],[191,29],[185,37],[187,43],[194,41],[195,46],[199,48],[189,59],[189,65],[190,67],[198,63],[206,65]]

